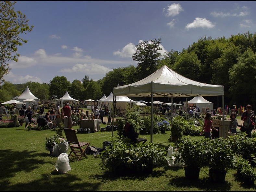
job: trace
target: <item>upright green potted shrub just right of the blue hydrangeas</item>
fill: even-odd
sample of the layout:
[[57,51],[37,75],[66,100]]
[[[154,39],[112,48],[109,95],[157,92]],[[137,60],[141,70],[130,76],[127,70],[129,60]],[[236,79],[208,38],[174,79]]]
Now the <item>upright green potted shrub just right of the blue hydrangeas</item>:
[[183,136],[184,118],[181,116],[174,117],[171,125],[171,140],[177,141]]

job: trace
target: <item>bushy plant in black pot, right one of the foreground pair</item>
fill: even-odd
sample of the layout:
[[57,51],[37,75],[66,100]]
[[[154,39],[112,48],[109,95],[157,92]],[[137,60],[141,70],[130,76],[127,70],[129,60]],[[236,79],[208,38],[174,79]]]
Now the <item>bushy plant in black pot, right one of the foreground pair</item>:
[[224,182],[227,170],[234,163],[233,151],[224,138],[209,140],[206,161],[209,162],[209,177],[216,182]]

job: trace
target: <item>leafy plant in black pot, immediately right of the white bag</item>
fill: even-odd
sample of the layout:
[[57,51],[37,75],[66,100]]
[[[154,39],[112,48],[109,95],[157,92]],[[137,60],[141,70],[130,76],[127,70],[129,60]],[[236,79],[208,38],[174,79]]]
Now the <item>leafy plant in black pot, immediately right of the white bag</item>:
[[[199,179],[201,166],[205,163],[206,141],[208,139],[191,140],[190,138],[185,138],[177,144],[178,153],[184,160],[182,164],[184,165],[186,179]],[[174,163],[178,159],[180,158],[178,157]]]

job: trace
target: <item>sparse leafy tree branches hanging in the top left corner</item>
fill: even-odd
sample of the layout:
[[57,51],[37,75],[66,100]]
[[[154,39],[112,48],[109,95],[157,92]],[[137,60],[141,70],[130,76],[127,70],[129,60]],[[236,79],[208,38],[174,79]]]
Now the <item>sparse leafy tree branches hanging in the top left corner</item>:
[[30,32],[33,28],[28,26],[29,20],[25,15],[14,10],[14,4],[16,2],[0,1],[0,82],[4,81],[3,76],[11,70],[7,62],[18,61],[17,46],[27,42],[19,34],[26,34],[26,31]]

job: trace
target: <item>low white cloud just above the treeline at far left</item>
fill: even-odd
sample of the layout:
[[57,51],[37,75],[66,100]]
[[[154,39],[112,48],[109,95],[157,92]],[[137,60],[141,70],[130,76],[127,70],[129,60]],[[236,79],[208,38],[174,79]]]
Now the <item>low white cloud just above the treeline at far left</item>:
[[18,76],[17,74],[13,74],[11,71],[9,72],[9,74],[4,76],[4,79],[6,81],[12,82],[13,84],[26,83],[28,81],[43,83],[41,78],[31,76],[31,75]]

